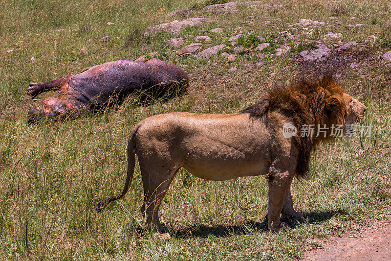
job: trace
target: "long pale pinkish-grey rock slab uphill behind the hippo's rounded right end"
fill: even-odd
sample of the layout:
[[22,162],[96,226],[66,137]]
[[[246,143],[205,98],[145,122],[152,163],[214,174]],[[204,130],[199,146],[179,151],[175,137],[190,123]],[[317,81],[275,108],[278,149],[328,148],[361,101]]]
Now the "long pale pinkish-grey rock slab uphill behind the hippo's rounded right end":
[[147,35],[150,35],[155,32],[166,30],[166,31],[170,31],[173,34],[178,34],[185,27],[202,25],[203,22],[210,23],[214,21],[215,20],[209,18],[189,18],[183,21],[174,20],[173,22],[170,23],[152,25],[145,29],[145,33]]

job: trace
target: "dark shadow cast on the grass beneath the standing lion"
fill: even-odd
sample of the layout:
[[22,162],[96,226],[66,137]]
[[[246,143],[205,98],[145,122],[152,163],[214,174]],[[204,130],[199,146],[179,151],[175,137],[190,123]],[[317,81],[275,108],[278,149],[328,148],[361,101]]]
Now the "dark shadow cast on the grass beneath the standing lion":
[[[335,215],[346,214],[343,210],[328,210],[321,212],[308,212],[303,213],[304,222],[308,224],[313,223],[322,223],[330,219]],[[295,220],[282,220],[289,225],[292,229],[297,228],[301,223]],[[266,233],[268,232],[267,219],[265,218],[262,222],[247,220],[243,224],[233,225],[233,226],[206,226],[199,225],[196,227],[190,228],[179,228],[170,231],[170,235],[176,238],[183,237],[230,237],[232,235],[247,235],[254,232]]]

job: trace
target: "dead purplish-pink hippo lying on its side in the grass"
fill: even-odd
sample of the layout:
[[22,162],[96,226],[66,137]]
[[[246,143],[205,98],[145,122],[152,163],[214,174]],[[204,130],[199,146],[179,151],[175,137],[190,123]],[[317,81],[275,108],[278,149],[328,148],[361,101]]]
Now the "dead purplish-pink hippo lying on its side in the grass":
[[43,117],[61,119],[87,110],[99,110],[118,104],[135,90],[145,95],[162,97],[168,93],[182,93],[189,85],[189,77],[182,68],[151,59],[147,62],[112,61],[91,67],[79,74],[54,81],[30,83],[27,95],[32,98],[49,90],[59,90],[58,98],[48,97],[31,108],[29,123]]

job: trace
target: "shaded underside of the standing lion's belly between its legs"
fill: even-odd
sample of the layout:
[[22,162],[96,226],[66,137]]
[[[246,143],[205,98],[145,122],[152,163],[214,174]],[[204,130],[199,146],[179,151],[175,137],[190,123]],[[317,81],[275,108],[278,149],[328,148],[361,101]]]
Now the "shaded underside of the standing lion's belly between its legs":
[[199,164],[185,164],[187,171],[196,177],[207,180],[229,180],[246,176],[265,175],[270,161],[202,161]]

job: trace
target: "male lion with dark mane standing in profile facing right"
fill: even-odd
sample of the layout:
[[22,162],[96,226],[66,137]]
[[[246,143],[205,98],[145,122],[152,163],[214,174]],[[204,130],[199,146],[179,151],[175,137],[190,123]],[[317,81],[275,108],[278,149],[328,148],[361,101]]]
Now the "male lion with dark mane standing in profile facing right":
[[[166,231],[158,217],[159,206],[183,166],[207,180],[266,175],[269,230],[279,231],[286,225],[280,221],[280,214],[284,218],[303,217],[293,209],[290,184],[295,175],[306,176],[311,151],[334,138],[336,125],[349,136],[351,124],[361,120],[366,109],[326,75],[273,89],[240,113],[173,112],[143,119],[130,133],[128,174],[122,193],[99,203],[96,210],[128,191],[137,154],[144,187],[141,212],[149,229],[156,227],[160,234]],[[292,137],[284,137],[286,123],[297,129]],[[318,124],[322,133],[315,127],[313,135],[301,135],[303,126]]]

